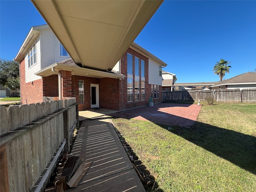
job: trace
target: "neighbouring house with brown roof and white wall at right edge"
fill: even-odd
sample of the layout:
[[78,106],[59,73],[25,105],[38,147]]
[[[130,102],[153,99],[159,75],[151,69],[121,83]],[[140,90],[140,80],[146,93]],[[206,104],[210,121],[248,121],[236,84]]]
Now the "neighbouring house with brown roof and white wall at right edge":
[[256,88],[256,73],[247,72],[210,86],[212,89],[252,89]]

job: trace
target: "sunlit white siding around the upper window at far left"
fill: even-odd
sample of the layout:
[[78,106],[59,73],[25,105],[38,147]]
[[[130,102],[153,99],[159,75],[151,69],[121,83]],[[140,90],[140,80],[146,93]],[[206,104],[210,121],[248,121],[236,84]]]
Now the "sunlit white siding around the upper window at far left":
[[[40,54],[40,37],[36,40],[36,63],[33,64],[30,68],[28,68],[28,54],[25,55],[25,79],[26,83],[38,80],[41,77],[35,75],[34,73],[41,70],[41,54]],[[34,45],[34,43],[33,43]],[[32,48],[32,46],[31,46]]]

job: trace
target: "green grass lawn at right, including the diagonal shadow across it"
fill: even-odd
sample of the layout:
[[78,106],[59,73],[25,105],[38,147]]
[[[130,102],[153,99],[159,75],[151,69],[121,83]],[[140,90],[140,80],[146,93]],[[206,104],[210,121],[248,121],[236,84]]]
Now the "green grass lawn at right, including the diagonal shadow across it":
[[[203,103],[192,128],[113,118],[154,191],[256,191],[256,103]],[[151,189],[148,189],[151,191]]]

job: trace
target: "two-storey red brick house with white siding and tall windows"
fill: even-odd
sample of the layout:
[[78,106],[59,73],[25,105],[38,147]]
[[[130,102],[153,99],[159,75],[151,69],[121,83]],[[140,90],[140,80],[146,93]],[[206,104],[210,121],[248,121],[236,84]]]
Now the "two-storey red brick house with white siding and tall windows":
[[161,102],[164,62],[132,43],[114,68],[82,67],[70,58],[48,25],[34,26],[17,56],[20,63],[22,104],[43,102],[43,97],[75,97],[79,110],[126,110]]

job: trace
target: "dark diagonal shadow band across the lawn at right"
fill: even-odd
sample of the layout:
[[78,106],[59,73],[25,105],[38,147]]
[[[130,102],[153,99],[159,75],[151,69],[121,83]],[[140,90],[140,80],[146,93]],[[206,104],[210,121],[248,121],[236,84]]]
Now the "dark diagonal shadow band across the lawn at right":
[[[160,125],[167,128],[166,125]],[[256,174],[256,137],[195,122],[191,128],[175,126],[170,132]]]

